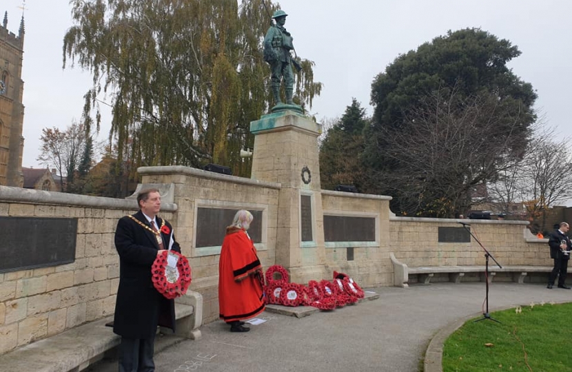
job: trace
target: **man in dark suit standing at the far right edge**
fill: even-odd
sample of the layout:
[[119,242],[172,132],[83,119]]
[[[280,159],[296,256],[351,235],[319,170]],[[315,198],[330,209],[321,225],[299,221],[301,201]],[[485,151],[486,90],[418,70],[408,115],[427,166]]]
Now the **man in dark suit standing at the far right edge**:
[[560,223],[558,229],[555,229],[554,232],[550,234],[548,245],[550,246],[550,258],[554,259],[554,268],[550,273],[548,289],[552,289],[556,276],[558,276],[558,288],[570,289],[570,287],[566,287],[564,284],[568,271],[570,251],[572,250],[570,238],[566,236],[568,229],[569,225],[563,222]]

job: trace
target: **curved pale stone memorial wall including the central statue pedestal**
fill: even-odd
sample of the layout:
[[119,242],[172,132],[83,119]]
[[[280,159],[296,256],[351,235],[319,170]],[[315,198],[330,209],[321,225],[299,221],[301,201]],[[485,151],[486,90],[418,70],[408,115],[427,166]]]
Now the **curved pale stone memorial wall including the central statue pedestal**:
[[[347,273],[361,287],[394,285],[391,254],[405,264],[484,265],[460,220],[396,217],[390,196],[320,187],[320,125],[285,110],[251,123],[252,178],[182,166],[138,169],[138,189],[161,192],[160,216],[174,227],[203,296],[203,322],[218,319],[218,258],[238,209],[262,265],[282,265],[293,282]],[[125,199],[0,186],[0,354],[85,322],[112,316],[119,284],[117,220],[137,210]],[[504,265],[551,265],[546,239],[522,221],[464,220]],[[112,329],[110,329],[110,332]]]

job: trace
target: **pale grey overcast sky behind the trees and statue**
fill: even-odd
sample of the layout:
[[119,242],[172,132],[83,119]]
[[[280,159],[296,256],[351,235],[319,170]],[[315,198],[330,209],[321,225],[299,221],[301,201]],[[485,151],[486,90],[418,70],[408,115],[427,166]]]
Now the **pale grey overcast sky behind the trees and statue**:
[[[205,0],[208,1],[208,0]],[[21,0],[1,0],[8,29],[17,33]],[[316,63],[324,84],[311,114],[318,121],[341,116],[355,97],[371,114],[371,82],[398,54],[415,50],[448,30],[482,28],[518,45],[509,64],[538,92],[536,108],[562,137],[572,137],[569,107],[572,77],[572,1],[569,0],[283,0],[299,56]],[[44,127],[65,129],[81,117],[91,76],[62,70],[63,34],[71,25],[68,0],[25,1],[23,80],[24,167],[39,167]],[[108,118],[100,139],[107,138]]]

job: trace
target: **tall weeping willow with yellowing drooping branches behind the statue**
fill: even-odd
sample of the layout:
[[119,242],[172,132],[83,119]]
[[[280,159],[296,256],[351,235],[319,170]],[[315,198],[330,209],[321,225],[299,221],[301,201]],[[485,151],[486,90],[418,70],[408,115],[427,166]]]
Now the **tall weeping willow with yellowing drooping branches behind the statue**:
[[[99,130],[101,102],[112,107],[110,138],[119,162],[229,165],[252,147],[250,121],[271,104],[262,43],[269,17],[262,0],[72,0],[63,67],[89,70],[83,123]],[[267,0],[270,12],[277,9]],[[311,107],[322,85],[303,61],[296,100]],[[134,167],[136,169],[136,167]]]

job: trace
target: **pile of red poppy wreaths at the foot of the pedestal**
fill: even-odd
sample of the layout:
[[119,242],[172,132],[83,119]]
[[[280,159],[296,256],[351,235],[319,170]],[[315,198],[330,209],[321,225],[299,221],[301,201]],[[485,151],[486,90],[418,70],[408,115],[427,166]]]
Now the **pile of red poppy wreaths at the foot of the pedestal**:
[[280,265],[269,267],[263,285],[267,304],[285,306],[312,306],[320,310],[334,310],[354,304],[365,296],[364,291],[345,273],[334,271],[334,279],[310,280],[308,285],[289,282],[288,272]]

